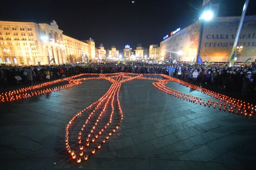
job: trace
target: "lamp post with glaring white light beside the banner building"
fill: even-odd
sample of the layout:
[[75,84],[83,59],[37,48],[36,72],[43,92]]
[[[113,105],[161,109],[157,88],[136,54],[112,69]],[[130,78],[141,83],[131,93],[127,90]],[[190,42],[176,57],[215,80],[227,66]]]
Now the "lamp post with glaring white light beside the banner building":
[[201,25],[200,25],[200,32],[199,32],[199,43],[198,43],[196,61],[197,61],[197,57],[200,56],[200,50],[201,50],[201,45],[202,45],[202,33],[203,33],[203,28],[204,28],[205,22],[212,20],[213,17],[214,17],[213,12],[210,11],[210,10],[207,10],[207,11],[204,11],[202,13],[202,16],[200,18],[201,19]]

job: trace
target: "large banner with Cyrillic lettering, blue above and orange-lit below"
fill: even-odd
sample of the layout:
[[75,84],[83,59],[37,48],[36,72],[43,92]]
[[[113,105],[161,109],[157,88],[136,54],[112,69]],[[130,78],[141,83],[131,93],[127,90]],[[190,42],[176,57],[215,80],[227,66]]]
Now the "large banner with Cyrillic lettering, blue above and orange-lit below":
[[[206,22],[202,34],[202,60],[226,62],[231,53],[240,17],[216,17]],[[246,16],[238,40],[237,61],[256,59],[256,16]]]

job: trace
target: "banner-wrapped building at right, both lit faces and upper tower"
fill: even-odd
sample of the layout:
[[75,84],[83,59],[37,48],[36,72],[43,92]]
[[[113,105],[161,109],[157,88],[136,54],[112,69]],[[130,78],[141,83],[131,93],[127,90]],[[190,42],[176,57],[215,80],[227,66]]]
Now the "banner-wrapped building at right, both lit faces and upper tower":
[[[203,7],[211,9],[216,14],[212,20],[204,22],[197,20],[191,25],[176,29],[175,34],[168,34],[160,43],[161,58],[181,61],[196,60],[198,52],[202,61],[227,62],[231,53],[240,17],[218,17],[219,1],[204,0]],[[251,58],[256,60],[256,16],[245,16],[243,28],[237,46],[243,46],[243,51],[236,53],[237,62]],[[176,31],[175,30],[175,31]],[[202,33],[202,41],[199,37]],[[182,55],[177,52],[181,51]]]

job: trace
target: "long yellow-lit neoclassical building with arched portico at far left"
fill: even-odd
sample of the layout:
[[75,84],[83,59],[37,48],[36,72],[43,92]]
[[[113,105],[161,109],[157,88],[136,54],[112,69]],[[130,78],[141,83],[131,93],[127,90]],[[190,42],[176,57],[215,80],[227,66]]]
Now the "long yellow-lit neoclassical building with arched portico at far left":
[[57,23],[0,21],[0,63],[45,65],[95,58],[93,39],[80,41],[63,35]]

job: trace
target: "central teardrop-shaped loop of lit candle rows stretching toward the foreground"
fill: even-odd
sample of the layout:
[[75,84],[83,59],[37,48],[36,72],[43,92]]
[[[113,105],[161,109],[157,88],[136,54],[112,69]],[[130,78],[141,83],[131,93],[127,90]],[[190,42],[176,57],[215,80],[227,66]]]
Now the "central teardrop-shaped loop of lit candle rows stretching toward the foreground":
[[[95,101],[93,104],[78,112],[66,126],[66,149],[67,152],[71,155],[71,158],[76,159],[77,163],[81,163],[82,160],[88,160],[88,158],[94,155],[96,150],[101,149],[102,145],[105,144],[106,141],[113,135],[113,133],[115,133],[119,129],[123,120],[123,112],[119,101],[119,91],[121,88],[121,84],[123,82],[130,81],[132,79],[142,76],[125,76],[125,73],[118,73],[118,75],[114,76],[107,75],[108,74],[101,74],[100,77],[112,82],[112,85],[110,86],[108,91],[99,100]],[[115,124],[114,128],[111,129],[110,125],[112,124],[113,115],[115,113],[114,104],[117,105],[120,120]],[[108,122],[102,127],[98,127],[98,125],[102,121],[102,117],[104,116],[104,114],[107,113],[108,107],[111,108]],[[89,114],[88,117],[85,119],[85,123],[82,124],[80,131],[78,132],[77,139],[79,147],[78,151],[76,152],[74,150],[71,150],[71,147],[69,145],[70,128],[75,125],[74,122],[76,118],[81,118],[81,114],[86,113],[86,111],[88,111]],[[88,124],[92,124],[92,127],[87,127]],[[89,133],[88,135],[83,136],[83,131],[85,131],[86,128],[88,128]],[[100,140],[100,138],[102,138],[102,140]],[[88,147],[92,143],[96,144],[96,147],[88,151]],[[79,157],[77,157],[77,155],[79,155]]]

